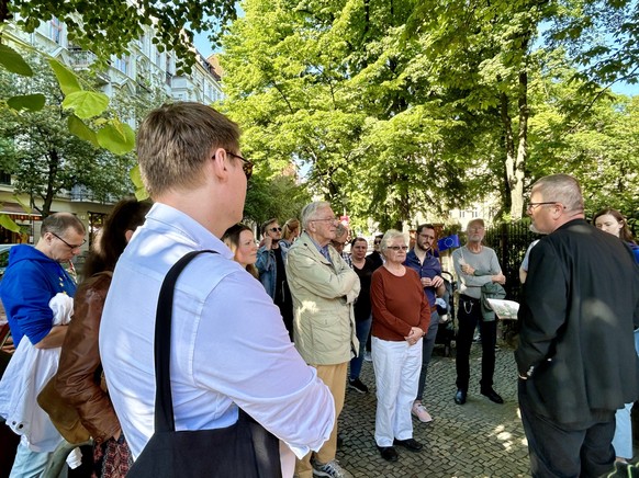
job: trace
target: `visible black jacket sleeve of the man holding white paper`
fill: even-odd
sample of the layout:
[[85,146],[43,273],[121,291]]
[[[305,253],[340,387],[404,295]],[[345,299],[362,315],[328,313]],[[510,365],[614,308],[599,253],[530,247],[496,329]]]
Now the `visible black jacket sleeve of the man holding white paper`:
[[535,246],[529,265],[518,314],[519,346],[515,352],[520,375],[548,358],[567,315],[568,282],[552,244],[541,241]]

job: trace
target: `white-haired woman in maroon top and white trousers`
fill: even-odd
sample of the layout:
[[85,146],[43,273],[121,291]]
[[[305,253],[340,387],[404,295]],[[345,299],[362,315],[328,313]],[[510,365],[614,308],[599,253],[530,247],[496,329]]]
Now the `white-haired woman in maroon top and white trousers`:
[[378,407],[375,443],[382,458],[396,462],[393,445],[422,449],[413,439],[411,407],[422,367],[422,337],[428,330],[430,308],[419,276],[405,268],[406,239],[389,230],[381,242],[384,265],[372,275],[372,358]]

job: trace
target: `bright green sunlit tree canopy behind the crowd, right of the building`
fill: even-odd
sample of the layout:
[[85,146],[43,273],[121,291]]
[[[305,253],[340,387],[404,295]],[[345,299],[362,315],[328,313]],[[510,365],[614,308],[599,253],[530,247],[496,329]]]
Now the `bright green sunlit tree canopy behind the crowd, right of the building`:
[[[495,192],[500,214],[520,217],[539,175],[587,181],[621,157],[636,161],[620,127],[632,109],[594,73],[601,50],[582,48],[581,65],[593,61],[585,75],[569,54],[578,45],[560,42],[586,3],[246,0],[223,41],[224,109],[261,168],[294,162],[312,193],[382,228]],[[634,8],[616,2],[610,18]],[[617,155],[583,144],[602,122],[596,144],[623,140]],[[631,207],[635,171],[621,183]]]

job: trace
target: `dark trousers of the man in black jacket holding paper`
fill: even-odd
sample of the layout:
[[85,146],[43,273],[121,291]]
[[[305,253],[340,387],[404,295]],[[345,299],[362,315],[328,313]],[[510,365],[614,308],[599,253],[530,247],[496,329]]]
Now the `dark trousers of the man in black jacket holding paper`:
[[564,424],[536,413],[519,380],[519,410],[534,478],[595,478],[613,471],[615,413],[605,421]]

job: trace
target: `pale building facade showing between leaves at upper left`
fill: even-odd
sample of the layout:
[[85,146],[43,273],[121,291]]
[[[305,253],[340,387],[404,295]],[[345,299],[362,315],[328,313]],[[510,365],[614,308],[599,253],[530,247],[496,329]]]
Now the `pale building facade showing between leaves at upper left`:
[[[195,64],[189,75],[176,75],[176,57],[172,52],[159,52],[153,44],[154,30],[145,26],[144,34],[130,45],[130,54],[111,58],[109,68],[97,73],[98,84],[110,99],[119,94],[144,98],[159,94],[177,101],[195,101],[211,104],[222,99],[220,71],[200,53],[195,53]],[[26,33],[15,23],[7,24],[3,43],[10,46],[29,45],[37,52],[56,58],[69,69],[88,70],[96,55],[92,52],[74,46],[67,36],[67,27],[58,19],[43,22],[33,33]],[[136,129],[135,114],[127,115],[130,126]],[[54,198],[52,212],[70,212],[76,214],[90,232],[97,231],[103,217],[111,210],[112,202],[96,202],[86,187],[78,185],[65,191]],[[0,171],[0,214],[8,215],[20,227],[21,232],[11,232],[0,226],[0,242],[34,243],[40,236],[41,215],[35,210],[26,195],[16,196],[11,175]],[[38,204],[36,204],[37,206]],[[90,246],[92,234],[89,236]]]

